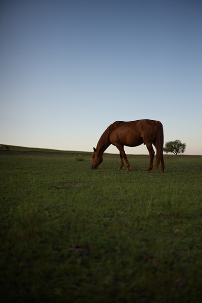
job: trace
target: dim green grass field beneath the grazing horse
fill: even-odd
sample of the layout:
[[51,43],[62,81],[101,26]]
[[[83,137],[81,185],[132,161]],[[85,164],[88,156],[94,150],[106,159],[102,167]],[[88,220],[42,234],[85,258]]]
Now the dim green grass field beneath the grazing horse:
[[[202,156],[0,150],[1,302],[201,302]],[[77,158],[77,159],[76,159]]]

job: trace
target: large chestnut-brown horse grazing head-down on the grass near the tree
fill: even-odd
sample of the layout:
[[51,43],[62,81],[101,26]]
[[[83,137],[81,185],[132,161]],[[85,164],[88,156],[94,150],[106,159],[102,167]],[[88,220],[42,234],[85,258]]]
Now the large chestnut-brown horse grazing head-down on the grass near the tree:
[[161,172],[164,171],[164,158],[163,158],[163,146],[164,146],[164,131],[163,125],[160,121],[154,120],[137,120],[131,122],[116,121],[111,124],[106,131],[102,134],[97,142],[96,148],[93,147],[92,153],[92,168],[97,168],[100,163],[103,162],[103,153],[111,145],[115,145],[120,151],[121,166],[119,169],[123,169],[126,162],[127,171],[130,171],[130,164],[126,157],[123,146],[139,146],[144,143],[148,149],[150,162],[146,172],[153,169],[153,161],[155,151],[152,144],[157,149],[157,158],[155,169],[158,170],[161,162]]

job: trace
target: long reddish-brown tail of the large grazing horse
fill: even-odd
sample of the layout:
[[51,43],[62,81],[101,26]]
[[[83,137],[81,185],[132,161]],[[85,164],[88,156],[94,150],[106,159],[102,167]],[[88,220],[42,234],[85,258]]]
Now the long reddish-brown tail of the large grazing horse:
[[162,161],[163,164],[162,170],[164,171],[165,169],[163,162],[164,130],[163,130],[163,125],[160,121],[156,121],[156,124],[157,124],[157,137],[156,137],[157,157],[156,157],[155,169],[158,170],[160,162]]

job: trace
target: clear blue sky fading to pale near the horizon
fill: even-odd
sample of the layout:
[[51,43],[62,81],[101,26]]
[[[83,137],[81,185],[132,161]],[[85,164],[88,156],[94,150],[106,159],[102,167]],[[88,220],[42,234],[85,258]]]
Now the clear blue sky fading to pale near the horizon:
[[92,151],[114,121],[152,119],[202,155],[201,16],[201,0],[1,0],[0,143]]

